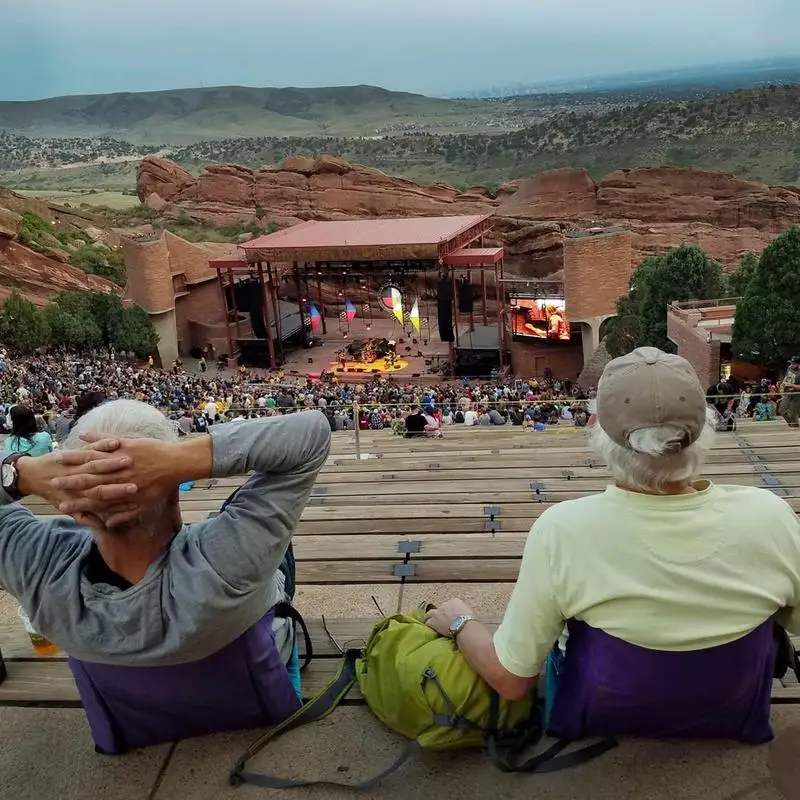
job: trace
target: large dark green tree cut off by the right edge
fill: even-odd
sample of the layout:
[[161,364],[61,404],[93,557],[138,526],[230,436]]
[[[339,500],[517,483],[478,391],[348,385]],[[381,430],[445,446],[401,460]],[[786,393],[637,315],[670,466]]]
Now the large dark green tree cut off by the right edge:
[[800,349],[800,228],[790,228],[762,253],[736,306],[733,353],[773,369]]

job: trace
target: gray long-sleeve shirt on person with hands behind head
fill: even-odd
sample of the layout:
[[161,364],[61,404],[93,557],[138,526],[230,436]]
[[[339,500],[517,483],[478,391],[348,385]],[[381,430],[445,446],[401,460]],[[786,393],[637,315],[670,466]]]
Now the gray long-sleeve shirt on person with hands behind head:
[[283,599],[278,566],[330,436],[318,412],[215,428],[213,476],[255,474],[223,513],[184,525],[124,591],[87,579],[90,531],[71,519],[39,520],[0,489],[0,587],[77,658],[127,666],[205,658]]

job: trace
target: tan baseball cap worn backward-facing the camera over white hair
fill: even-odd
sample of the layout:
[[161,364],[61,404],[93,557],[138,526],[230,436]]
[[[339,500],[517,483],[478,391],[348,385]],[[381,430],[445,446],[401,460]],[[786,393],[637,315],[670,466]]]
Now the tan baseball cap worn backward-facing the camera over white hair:
[[642,428],[672,425],[683,431],[675,450],[688,447],[706,424],[706,396],[692,365],[655,347],[609,361],[597,384],[597,421],[612,442],[630,449]]

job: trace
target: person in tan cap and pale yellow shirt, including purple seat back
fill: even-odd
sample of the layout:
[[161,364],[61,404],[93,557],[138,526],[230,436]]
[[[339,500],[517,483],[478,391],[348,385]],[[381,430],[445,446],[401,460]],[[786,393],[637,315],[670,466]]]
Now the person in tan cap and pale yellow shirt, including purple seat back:
[[547,664],[554,735],[772,737],[775,620],[800,633],[800,523],[766,489],[700,480],[714,424],[685,359],[614,359],[591,431],[612,484],[539,517],[494,635],[460,600],[430,612],[504,697]]

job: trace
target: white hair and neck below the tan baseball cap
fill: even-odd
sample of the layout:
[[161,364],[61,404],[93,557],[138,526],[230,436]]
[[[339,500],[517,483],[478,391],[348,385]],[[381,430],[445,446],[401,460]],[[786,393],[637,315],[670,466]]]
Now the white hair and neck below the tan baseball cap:
[[[594,413],[594,403],[591,405]],[[665,487],[670,484],[690,482],[700,476],[714,443],[716,426],[716,412],[708,408],[705,428],[697,440],[674,451],[675,440],[684,435],[674,426],[634,431],[628,448],[612,442],[597,421],[589,429],[589,443],[617,484],[648,494],[666,494]]]

